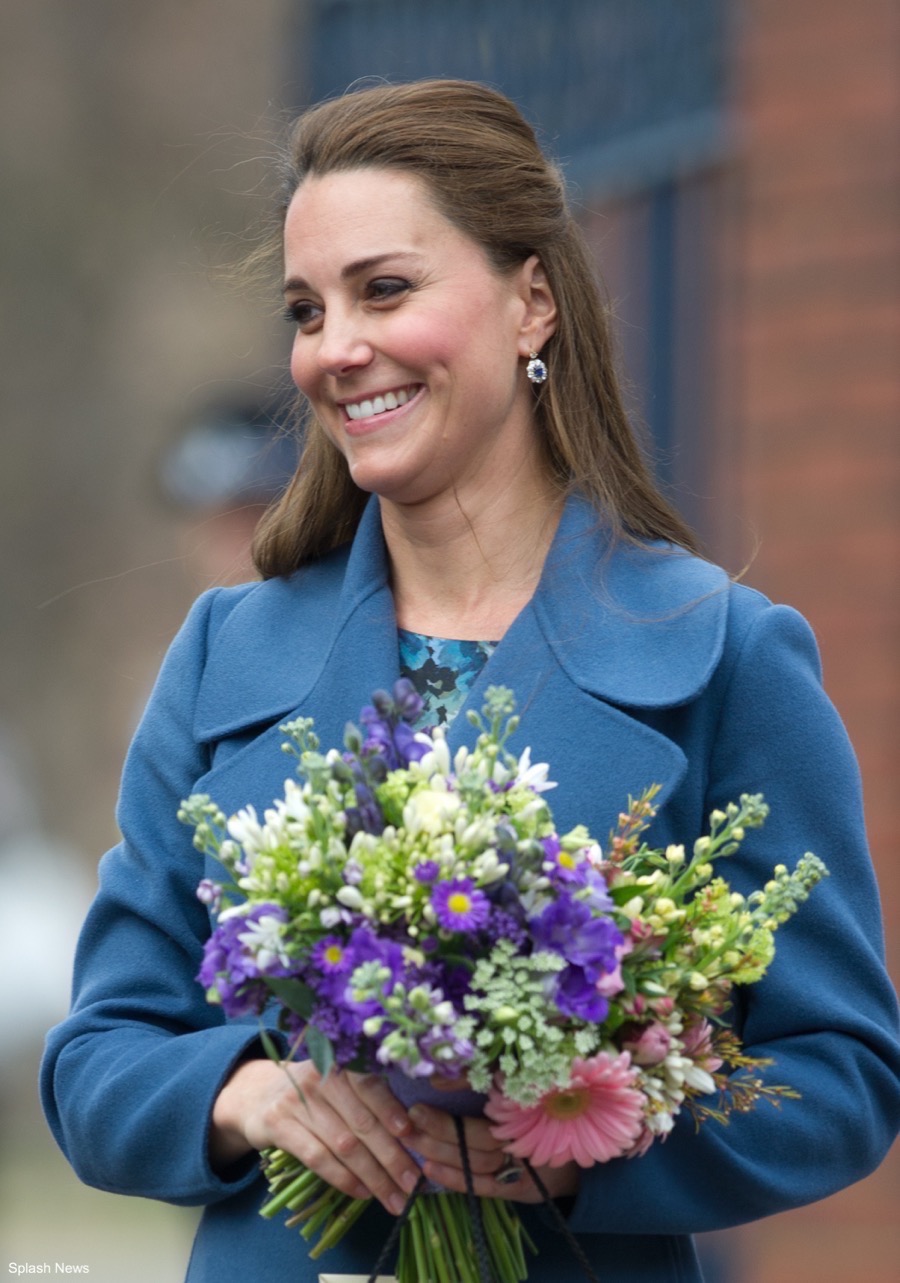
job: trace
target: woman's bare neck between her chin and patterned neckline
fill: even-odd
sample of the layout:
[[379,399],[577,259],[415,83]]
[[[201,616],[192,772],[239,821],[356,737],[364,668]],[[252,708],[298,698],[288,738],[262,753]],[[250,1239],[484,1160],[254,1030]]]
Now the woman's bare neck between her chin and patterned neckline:
[[562,497],[543,479],[415,506],[381,500],[399,626],[502,638],[534,594],[561,511]]

